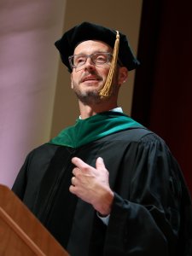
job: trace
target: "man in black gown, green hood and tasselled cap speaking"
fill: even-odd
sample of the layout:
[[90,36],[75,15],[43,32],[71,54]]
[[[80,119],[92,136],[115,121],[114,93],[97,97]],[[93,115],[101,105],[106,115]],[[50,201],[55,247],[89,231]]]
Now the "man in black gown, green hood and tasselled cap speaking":
[[191,255],[191,201],[164,141],[118,108],[139,65],[120,32],[84,22],[55,43],[80,117],[34,149],[13,190],[73,255]]

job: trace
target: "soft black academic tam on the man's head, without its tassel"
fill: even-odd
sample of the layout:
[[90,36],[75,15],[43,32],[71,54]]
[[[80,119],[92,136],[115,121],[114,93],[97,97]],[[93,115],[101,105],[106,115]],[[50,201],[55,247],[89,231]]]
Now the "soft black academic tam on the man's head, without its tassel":
[[[139,61],[137,61],[133,55],[126,36],[120,32],[119,36],[119,60],[128,70],[135,69],[139,65]],[[83,22],[65,32],[64,35],[55,42],[55,46],[60,51],[62,62],[68,67],[68,70],[72,72],[68,57],[73,55],[73,51],[79,43],[86,40],[100,40],[110,45],[113,49],[115,39],[115,30],[90,22]]]

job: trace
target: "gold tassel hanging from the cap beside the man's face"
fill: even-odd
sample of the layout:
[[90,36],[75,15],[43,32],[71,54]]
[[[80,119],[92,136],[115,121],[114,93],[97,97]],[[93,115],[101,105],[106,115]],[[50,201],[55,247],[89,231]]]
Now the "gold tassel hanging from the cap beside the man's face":
[[113,49],[113,58],[111,61],[111,67],[108,72],[108,78],[107,78],[106,83],[103,86],[102,90],[100,90],[100,92],[99,92],[99,95],[102,98],[108,97],[112,93],[111,84],[113,81],[113,73],[115,72],[115,68],[116,68],[117,61],[118,61],[118,54],[119,54],[119,32],[118,31],[116,31],[116,32],[117,32],[117,34],[116,34],[116,40],[115,40],[114,49]]

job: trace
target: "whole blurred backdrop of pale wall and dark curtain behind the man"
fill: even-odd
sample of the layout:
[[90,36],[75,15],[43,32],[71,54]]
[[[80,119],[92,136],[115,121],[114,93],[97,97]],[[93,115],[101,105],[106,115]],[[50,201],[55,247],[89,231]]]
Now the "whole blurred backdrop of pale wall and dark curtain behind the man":
[[192,3],[162,0],[2,0],[0,3],[0,183],[10,188],[32,148],[79,117],[55,41],[90,21],[129,38],[141,66],[119,106],[162,137],[192,191]]

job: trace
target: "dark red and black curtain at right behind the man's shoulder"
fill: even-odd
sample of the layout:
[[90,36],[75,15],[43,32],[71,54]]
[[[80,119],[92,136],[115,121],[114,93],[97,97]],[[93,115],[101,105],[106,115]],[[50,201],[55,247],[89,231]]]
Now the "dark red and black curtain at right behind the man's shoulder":
[[132,117],[162,137],[192,194],[192,1],[143,1]]

